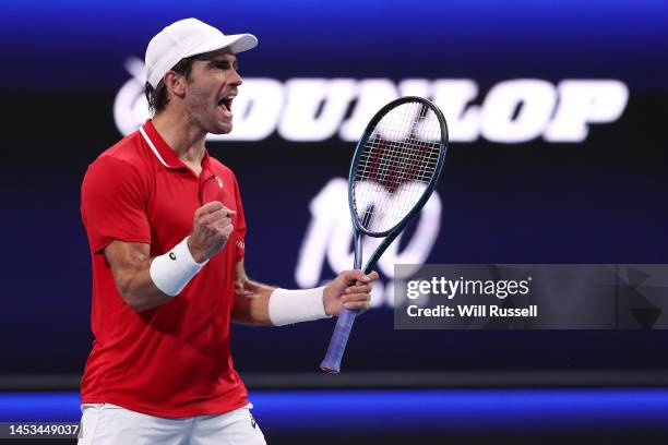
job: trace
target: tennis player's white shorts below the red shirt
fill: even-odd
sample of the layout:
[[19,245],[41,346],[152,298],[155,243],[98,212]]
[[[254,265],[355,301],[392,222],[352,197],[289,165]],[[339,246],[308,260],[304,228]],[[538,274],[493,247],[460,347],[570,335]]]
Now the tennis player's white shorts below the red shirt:
[[82,405],[79,445],[266,445],[248,404],[224,414],[168,419],[111,404]]

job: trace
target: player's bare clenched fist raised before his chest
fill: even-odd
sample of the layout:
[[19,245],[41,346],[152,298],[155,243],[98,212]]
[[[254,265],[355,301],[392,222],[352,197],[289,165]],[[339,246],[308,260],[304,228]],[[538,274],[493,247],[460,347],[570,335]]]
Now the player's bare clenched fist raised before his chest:
[[236,212],[218,201],[206,203],[195,211],[192,234],[188,238],[188,248],[195,262],[205,262],[225,246],[235,229],[231,224],[235,215]]

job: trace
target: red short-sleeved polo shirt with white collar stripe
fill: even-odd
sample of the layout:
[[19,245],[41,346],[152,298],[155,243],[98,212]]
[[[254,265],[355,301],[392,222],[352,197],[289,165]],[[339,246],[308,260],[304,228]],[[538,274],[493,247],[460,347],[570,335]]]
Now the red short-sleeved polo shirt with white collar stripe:
[[[237,212],[225,248],[169,302],[131,309],[104,249],[114,240],[144,242],[151,256],[162,255],[192,231],[195,209],[211,201]],[[82,402],[169,418],[244,406],[247,390],[230,354],[230,314],[246,220],[231,170],[205,154],[195,176],[148,120],[91,164],[81,213],[93,261],[95,335]]]

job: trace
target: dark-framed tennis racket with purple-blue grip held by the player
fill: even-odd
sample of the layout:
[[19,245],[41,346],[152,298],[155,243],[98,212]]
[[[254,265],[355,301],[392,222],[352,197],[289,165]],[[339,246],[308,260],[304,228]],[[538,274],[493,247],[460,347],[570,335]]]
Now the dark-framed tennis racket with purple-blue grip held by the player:
[[[437,185],[448,147],[441,110],[421,97],[401,97],[373,116],[350,165],[348,204],[353,217],[355,268],[361,268],[361,234],[384,238],[363,273],[421,211]],[[358,311],[342,308],[320,369],[338,373]]]

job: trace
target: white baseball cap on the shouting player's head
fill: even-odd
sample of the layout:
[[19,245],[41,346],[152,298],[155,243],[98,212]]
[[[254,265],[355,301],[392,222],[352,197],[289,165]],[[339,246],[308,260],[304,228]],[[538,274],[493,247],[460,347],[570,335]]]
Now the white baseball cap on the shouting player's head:
[[154,88],[167,71],[181,59],[229,48],[232,53],[258,46],[252,34],[226,36],[213,26],[196,19],[183,19],[172,23],[151,39],[146,48],[146,80]]

